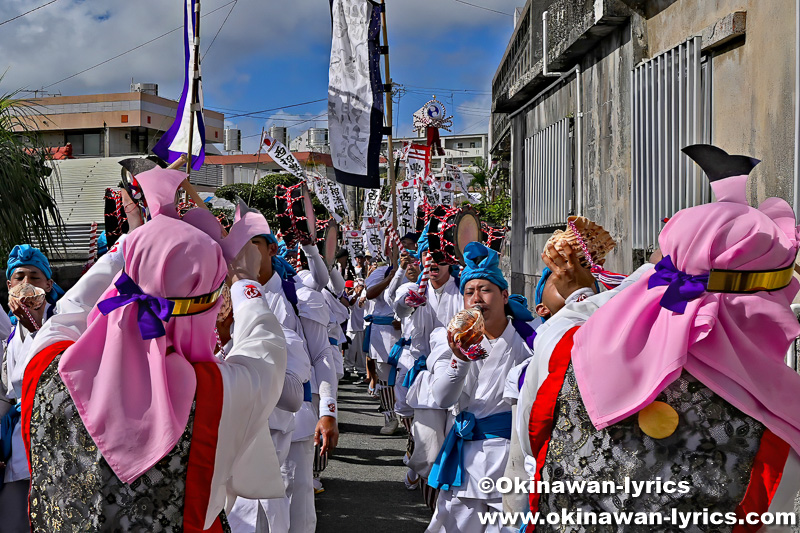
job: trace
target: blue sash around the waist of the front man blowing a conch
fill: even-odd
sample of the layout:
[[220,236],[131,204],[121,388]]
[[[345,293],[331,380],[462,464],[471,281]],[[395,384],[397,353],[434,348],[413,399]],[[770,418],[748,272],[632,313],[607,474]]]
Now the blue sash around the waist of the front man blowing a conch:
[[428,476],[428,485],[450,490],[460,487],[464,479],[464,441],[511,438],[511,411],[504,411],[485,418],[475,418],[468,411],[459,413],[442,449],[433,463]]

